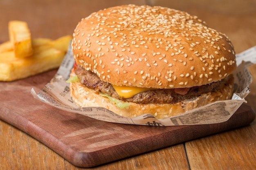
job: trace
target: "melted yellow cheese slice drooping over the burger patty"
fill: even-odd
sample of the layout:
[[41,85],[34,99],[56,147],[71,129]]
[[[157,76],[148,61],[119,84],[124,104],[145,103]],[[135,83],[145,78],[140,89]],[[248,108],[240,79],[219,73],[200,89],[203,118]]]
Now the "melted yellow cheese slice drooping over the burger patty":
[[138,93],[155,89],[155,88],[142,88],[142,87],[130,87],[130,86],[116,86],[113,84],[112,86],[117,92],[117,94],[120,97],[124,97],[124,98],[130,98],[134,95],[137,95]]

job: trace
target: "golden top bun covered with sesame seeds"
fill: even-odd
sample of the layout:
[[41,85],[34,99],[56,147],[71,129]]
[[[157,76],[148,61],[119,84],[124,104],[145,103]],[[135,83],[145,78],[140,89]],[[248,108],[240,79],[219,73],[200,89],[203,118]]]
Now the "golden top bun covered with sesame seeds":
[[73,34],[76,63],[118,86],[185,88],[236,68],[225,34],[186,12],[124,5],[83,18]]

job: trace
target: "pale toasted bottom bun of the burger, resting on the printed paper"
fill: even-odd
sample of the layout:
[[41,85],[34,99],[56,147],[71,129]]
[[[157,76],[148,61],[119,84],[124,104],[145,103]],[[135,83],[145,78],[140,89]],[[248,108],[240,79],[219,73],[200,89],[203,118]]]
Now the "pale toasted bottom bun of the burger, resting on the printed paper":
[[175,104],[136,104],[129,103],[127,108],[118,108],[110,102],[107,97],[103,97],[94,90],[86,88],[79,82],[70,83],[70,92],[73,101],[80,107],[103,107],[124,117],[137,117],[146,113],[154,115],[157,119],[165,119],[179,115],[188,110],[204,106],[219,100],[230,99],[233,94],[234,84],[229,82],[220,91],[205,93],[190,100],[184,100]]

